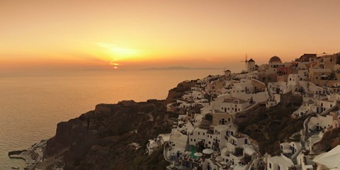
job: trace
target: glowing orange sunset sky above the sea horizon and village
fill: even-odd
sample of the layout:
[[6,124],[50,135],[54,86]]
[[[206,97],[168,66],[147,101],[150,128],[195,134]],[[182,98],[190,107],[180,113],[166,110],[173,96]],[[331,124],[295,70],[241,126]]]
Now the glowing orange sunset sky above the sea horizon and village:
[[340,1],[0,1],[0,67],[243,66],[339,52]]

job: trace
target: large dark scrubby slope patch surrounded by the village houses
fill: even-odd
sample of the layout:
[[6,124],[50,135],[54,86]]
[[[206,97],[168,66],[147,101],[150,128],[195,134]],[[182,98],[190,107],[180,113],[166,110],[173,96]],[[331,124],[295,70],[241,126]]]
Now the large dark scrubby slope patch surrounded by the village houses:
[[303,122],[307,117],[299,119],[290,117],[300,106],[301,101],[301,98],[288,94],[283,96],[283,101],[278,106],[260,107],[255,111],[237,115],[235,123],[239,132],[249,135],[259,143],[261,154],[278,155],[280,142],[292,140],[290,137],[303,128]]

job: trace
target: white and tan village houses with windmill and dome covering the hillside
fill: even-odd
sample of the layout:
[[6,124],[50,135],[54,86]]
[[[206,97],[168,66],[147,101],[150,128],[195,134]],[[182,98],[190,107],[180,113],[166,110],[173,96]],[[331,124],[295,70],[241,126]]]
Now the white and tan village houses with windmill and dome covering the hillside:
[[[224,75],[199,79],[167,105],[168,111],[183,113],[170,134],[149,140],[147,152],[163,148],[169,170],[340,169],[339,145],[323,153],[313,147],[325,132],[339,128],[339,60],[339,53],[304,54],[293,62],[274,56],[261,65],[250,59],[240,73],[225,70]],[[261,155],[258,142],[238,132],[234,120],[260,106],[276,106],[288,93],[303,98],[291,118],[310,115],[295,133],[300,142],[280,143],[279,156]]]

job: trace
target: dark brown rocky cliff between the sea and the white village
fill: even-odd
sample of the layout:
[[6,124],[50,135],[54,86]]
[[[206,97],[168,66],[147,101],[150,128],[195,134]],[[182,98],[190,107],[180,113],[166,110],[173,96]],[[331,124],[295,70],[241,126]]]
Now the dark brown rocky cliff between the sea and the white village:
[[[145,156],[148,140],[171,130],[163,102],[101,104],[96,111],[59,123],[55,137],[47,142],[45,157],[63,158],[65,169],[150,169],[139,161],[149,159]],[[136,150],[132,142],[141,148]],[[152,169],[165,169],[162,157],[152,158],[159,164]]]

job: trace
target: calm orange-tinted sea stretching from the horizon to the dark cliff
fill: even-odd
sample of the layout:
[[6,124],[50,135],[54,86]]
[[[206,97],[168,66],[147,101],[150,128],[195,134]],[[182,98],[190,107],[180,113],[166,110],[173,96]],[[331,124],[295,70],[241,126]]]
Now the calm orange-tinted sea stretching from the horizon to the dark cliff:
[[222,69],[73,72],[0,72],[0,169],[25,162],[8,151],[27,149],[55,135],[57,123],[98,103],[165,99],[179,82],[222,74]]

